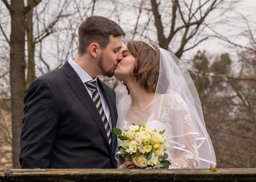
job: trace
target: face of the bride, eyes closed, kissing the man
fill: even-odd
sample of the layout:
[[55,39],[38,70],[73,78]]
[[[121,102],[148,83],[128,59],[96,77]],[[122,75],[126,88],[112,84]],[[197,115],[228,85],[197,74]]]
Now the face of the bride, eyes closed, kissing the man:
[[121,53],[123,59],[117,64],[114,70],[114,76],[121,81],[125,81],[133,74],[133,68],[136,59],[131,55],[131,53],[127,49],[127,46],[124,47]]

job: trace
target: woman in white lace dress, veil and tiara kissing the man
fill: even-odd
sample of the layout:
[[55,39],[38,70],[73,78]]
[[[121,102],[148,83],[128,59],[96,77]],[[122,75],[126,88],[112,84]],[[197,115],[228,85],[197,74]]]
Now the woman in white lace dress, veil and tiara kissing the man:
[[[169,169],[215,167],[200,99],[180,60],[143,37],[128,41],[122,55],[114,71],[122,81],[116,89],[117,127],[145,122],[157,131],[165,129]],[[136,167],[118,150],[115,157],[119,168]]]

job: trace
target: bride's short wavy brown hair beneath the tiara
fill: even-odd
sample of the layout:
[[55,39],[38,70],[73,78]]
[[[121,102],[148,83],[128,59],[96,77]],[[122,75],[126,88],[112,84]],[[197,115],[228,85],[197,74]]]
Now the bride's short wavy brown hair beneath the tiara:
[[127,49],[136,58],[133,70],[134,74],[131,76],[136,81],[139,81],[139,84],[144,86],[148,91],[155,92],[159,76],[160,53],[156,44],[150,42],[150,45],[155,50],[148,44],[140,41],[130,40],[126,43]]

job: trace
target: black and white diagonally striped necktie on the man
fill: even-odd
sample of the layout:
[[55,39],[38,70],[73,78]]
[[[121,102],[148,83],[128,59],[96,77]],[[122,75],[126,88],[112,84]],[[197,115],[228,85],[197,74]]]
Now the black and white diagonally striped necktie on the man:
[[96,108],[101,116],[101,120],[103,122],[103,125],[106,129],[106,133],[107,133],[107,137],[108,137],[108,144],[111,146],[111,129],[110,126],[108,124],[108,120],[106,118],[106,115],[104,113],[102,104],[101,104],[101,98],[99,96],[99,92],[97,90],[97,83],[96,81],[88,81],[86,82],[89,90],[92,92],[92,101],[94,102],[94,104],[96,105]]

